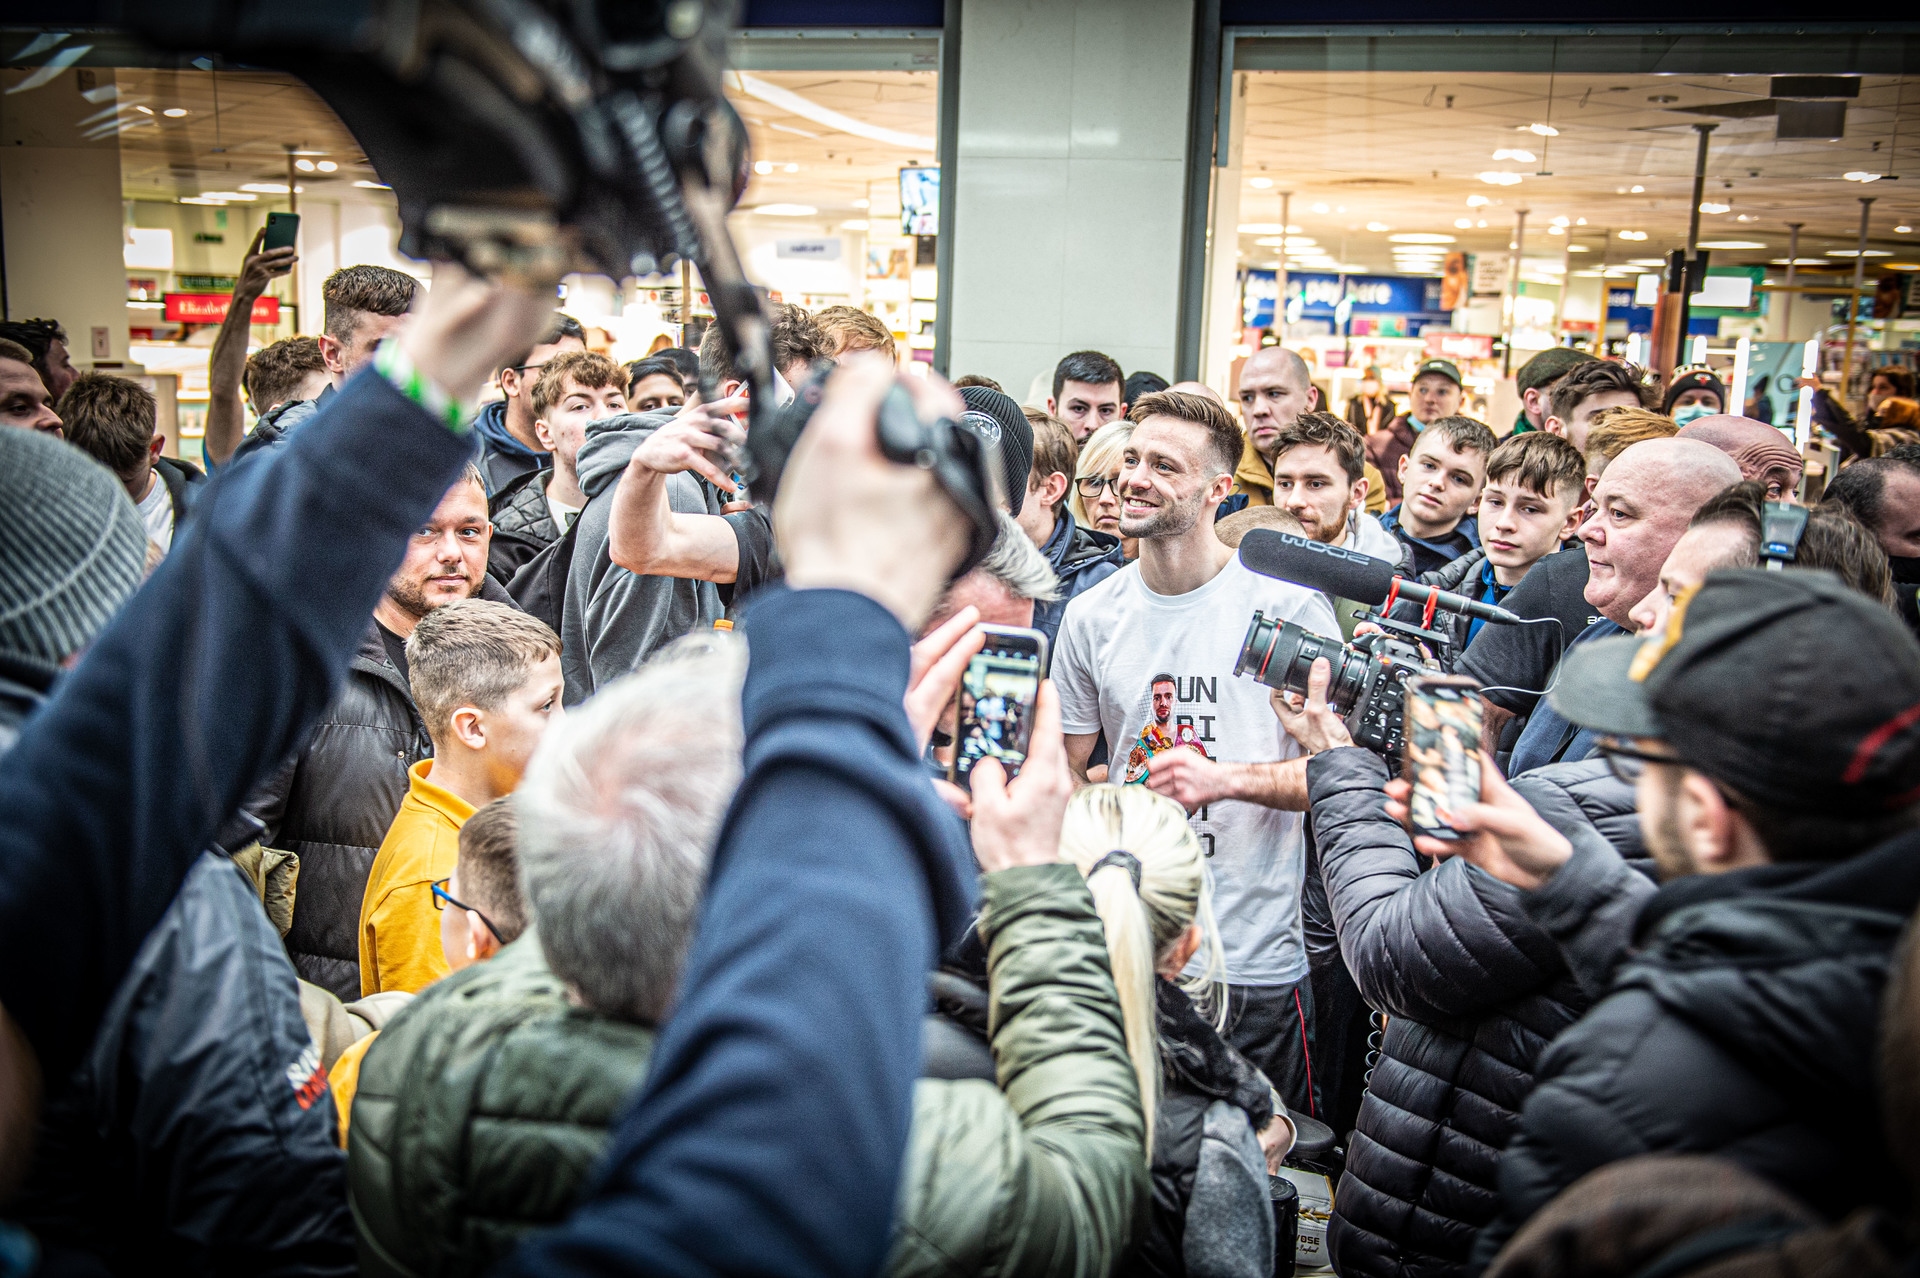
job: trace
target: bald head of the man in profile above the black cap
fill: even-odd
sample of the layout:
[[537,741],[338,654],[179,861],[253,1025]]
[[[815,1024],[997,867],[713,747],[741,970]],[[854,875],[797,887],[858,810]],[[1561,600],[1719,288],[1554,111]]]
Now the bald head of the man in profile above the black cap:
[[1634,604],[1659,581],[1688,520],[1728,484],[1740,484],[1740,466],[1699,439],[1644,439],[1613,459],[1580,526],[1586,601],[1632,629]]

